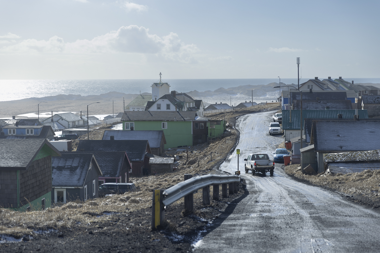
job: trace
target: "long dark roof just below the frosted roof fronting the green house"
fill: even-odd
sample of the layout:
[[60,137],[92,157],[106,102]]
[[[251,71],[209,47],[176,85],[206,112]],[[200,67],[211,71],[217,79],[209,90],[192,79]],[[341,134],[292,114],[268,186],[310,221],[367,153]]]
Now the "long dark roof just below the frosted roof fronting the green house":
[[150,148],[147,140],[80,140],[77,150],[84,152],[123,151],[127,152],[130,161],[142,161],[147,147]]

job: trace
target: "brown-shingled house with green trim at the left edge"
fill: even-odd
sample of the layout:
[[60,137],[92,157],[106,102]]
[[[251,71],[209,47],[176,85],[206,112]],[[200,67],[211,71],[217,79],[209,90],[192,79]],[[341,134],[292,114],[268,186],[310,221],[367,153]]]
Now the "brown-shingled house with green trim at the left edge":
[[51,206],[52,156],[46,139],[0,139],[0,205],[19,211]]

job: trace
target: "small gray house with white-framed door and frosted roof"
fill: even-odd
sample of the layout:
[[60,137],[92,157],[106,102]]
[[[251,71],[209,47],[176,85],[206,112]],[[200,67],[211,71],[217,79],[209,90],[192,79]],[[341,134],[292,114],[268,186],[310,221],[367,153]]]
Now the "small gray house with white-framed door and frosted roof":
[[103,173],[93,154],[62,152],[61,157],[53,157],[52,169],[54,203],[98,197],[98,177]]

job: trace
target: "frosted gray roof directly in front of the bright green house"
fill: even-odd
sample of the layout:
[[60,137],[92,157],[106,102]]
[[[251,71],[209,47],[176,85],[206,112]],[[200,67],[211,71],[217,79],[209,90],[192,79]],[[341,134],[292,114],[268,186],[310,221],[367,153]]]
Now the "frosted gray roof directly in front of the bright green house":
[[102,140],[109,140],[111,135],[114,136],[114,140],[148,140],[150,148],[160,148],[162,137],[166,144],[163,130],[105,130]]

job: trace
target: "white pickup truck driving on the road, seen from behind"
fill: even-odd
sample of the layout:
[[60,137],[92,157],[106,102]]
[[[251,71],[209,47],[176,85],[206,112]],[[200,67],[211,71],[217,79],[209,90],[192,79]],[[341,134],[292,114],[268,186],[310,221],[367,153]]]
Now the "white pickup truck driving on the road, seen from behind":
[[256,171],[263,174],[266,171],[270,171],[271,176],[273,176],[274,161],[269,160],[268,154],[249,154],[244,161],[245,173],[252,170],[252,175],[254,175]]

